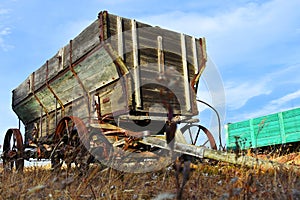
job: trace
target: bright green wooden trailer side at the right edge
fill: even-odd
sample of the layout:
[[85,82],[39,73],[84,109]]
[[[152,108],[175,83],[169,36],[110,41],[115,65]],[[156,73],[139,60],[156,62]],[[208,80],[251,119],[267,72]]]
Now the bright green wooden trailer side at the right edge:
[[225,126],[227,149],[250,149],[300,141],[300,108]]

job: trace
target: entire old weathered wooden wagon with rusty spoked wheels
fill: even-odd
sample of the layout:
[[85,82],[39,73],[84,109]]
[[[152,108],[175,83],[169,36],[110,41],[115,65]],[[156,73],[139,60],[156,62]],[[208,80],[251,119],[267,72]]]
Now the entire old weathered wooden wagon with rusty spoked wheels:
[[[22,169],[24,159],[37,158],[54,167],[83,165],[116,148],[153,157],[147,137],[166,137],[168,148],[174,135],[186,143],[182,132],[199,121],[196,94],[205,64],[204,38],[100,12],[13,90],[25,140],[19,129],[7,131],[4,163]],[[196,126],[192,143],[199,144],[201,129],[216,148],[211,133]]]

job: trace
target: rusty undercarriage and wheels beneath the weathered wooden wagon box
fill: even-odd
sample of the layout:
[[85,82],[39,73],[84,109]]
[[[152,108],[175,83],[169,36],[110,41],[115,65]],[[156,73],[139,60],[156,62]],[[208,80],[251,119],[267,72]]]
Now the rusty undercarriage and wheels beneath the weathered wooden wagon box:
[[[193,126],[200,125],[189,122],[181,130],[185,134],[192,134],[187,128]],[[67,167],[73,163],[86,169],[90,163],[96,162],[124,171],[145,172],[158,170],[181,155],[202,158],[207,142],[216,149],[215,141],[207,129],[202,133],[198,132],[207,134],[207,141],[203,145],[197,142],[198,135],[194,137],[193,144],[187,144],[181,130],[169,132],[168,123],[164,130],[155,135],[151,135],[148,130],[134,132],[110,123],[90,124],[86,127],[80,118],[70,116],[64,117],[58,123],[55,133],[38,140],[30,140],[28,145],[23,144],[18,129],[8,130],[2,159],[6,170],[11,170],[13,166],[22,170],[24,160],[49,159],[53,169],[59,169],[63,163]],[[167,134],[174,135],[174,140],[167,143]]]

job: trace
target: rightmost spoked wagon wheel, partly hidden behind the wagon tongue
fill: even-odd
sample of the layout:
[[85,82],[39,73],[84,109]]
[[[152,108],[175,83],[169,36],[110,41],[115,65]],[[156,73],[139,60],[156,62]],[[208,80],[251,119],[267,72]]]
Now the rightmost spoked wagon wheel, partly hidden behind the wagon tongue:
[[[201,131],[204,132],[204,135],[200,135],[202,133]],[[210,147],[211,149],[217,150],[217,145],[214,136],[204,126],[201,126],[199,124],[186,124],[184,127],[181,128],[181,132],[184,136],[190,138],[192,145],[206,146]]]

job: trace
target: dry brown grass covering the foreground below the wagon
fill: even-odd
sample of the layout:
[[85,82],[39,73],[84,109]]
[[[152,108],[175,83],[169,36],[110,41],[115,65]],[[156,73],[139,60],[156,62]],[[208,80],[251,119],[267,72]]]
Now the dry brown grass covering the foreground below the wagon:
[[[29,167],[0,175],[0,199],[174,199],[172,167],[145,174],[122,173],[93,166],[52,172]],[[300,199],[299,175],[247,169],[225,163],[201,163],[191,172],[183,199]]]

